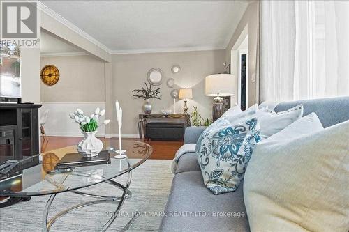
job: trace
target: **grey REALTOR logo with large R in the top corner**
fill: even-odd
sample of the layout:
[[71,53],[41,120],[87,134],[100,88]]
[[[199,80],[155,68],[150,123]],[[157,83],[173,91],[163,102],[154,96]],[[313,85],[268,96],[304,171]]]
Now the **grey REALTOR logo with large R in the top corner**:
[[1,46],[39,47],[38,1],[1,1]]

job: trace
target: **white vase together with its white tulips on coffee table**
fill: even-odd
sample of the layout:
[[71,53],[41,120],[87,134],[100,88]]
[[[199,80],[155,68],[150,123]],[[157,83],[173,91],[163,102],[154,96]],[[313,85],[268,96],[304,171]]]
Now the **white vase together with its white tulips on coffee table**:
[[104,114],[105,109],[100,110],[99,107],[91,116],[85,116],[81,109],[76,109],[74,113],[69,114],[70,118],[80,125],[82,134],[84,134],[84,139],[77,144],[77,151],[84,157],[94,157],[103,149],[103,143],[96,138],[96,133],[98,132],[98,126],[110,123],[110,120],[106,119],[101,125],[98,125],[99,117]]

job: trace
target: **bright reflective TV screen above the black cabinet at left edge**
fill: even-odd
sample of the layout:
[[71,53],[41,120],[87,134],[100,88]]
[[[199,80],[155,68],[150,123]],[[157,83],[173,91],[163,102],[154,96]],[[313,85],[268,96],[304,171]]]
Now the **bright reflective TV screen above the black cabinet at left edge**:
[[0,97],[21,98],[20,47],[1,45]]

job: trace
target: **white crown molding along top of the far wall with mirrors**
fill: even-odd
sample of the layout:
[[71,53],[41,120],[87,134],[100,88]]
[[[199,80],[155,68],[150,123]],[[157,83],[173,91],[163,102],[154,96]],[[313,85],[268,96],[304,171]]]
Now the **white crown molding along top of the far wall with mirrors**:
[[199,52],[224,50],[225,47],[176,47],[176,48],[154,48],[154,49],[135,49],[135,50],[112,50],[112,55],[117,54],[142,54],[142,53],[158,53],[158,52]]

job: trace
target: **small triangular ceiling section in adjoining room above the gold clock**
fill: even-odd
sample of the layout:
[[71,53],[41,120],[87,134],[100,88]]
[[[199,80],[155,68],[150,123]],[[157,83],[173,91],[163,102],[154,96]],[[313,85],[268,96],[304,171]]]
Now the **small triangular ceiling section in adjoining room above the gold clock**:
[[40,54],[41,56],[80,54],[82,50],[56,38],[45,31],[41,31],[40,36]]

